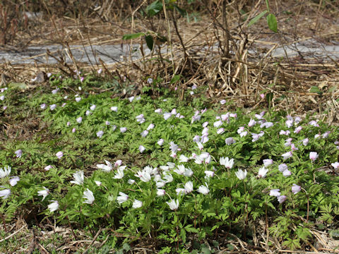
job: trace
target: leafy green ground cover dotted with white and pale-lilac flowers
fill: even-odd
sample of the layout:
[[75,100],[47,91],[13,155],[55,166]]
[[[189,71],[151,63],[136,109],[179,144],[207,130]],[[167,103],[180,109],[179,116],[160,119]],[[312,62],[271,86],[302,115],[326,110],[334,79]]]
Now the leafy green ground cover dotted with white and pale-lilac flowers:
[[234,237],[293,250],[314,242],[310,229],[338,235],[338,128],[273,109],[244,113],[194,88],[183,100],[180,88],[122,97],[133,85],[52,75],[49,85],[2,89],[4,223],[114,231],[102,231],[98,253],[141,243],[214,253],[233,250]]

